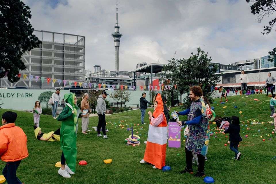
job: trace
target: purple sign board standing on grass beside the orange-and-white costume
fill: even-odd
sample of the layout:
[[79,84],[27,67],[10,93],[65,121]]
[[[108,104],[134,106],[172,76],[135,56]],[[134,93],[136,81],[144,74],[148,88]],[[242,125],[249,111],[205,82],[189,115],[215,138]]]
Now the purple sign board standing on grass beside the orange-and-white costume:
[[168,139],[168,147],[180,147],[181,143],[181,127],[177,124],[177,122],[169,122],[169,139]]

